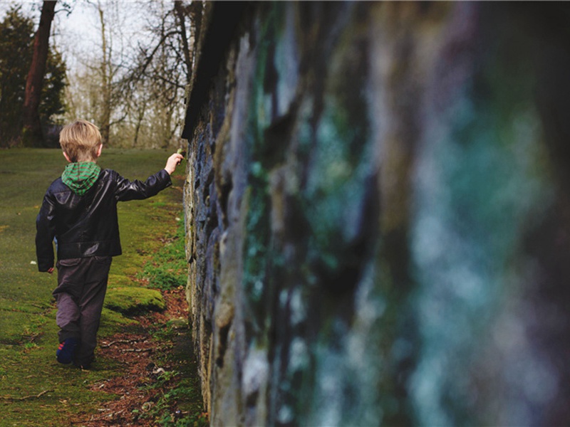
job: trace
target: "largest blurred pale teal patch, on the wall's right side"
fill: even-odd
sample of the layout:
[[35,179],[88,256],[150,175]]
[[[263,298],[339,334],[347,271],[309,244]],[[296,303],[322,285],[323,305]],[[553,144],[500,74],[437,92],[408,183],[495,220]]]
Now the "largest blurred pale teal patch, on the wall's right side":
[[[482,363],[496,310],[536,262],[521,264],[524,238],[554,196],[529,56],[515,60],[512,50],[527,43],[516,40],[497,35],[441,122],[433,120],[439,135],[426,135],[412,233],[420,342],[410,384],[420,424],[489,423],[472,384],[457,378]],[[492,395],[492,381],[486,387]]]

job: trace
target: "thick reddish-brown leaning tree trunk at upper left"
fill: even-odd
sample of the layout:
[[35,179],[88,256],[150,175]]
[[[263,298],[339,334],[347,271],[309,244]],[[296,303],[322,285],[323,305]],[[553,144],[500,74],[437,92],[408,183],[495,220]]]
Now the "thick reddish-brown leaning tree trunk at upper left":
[[33,41],[33,57],[30,71],[26,78],[24,111],[22,114],[24,144],[26,145],[44,144],[43,134],[41,132],[39,105],[43,75],[46,73],[46,61],[48,60],[51,21],[53,21],[55,9],[56,1],[43,1],[40,24]]

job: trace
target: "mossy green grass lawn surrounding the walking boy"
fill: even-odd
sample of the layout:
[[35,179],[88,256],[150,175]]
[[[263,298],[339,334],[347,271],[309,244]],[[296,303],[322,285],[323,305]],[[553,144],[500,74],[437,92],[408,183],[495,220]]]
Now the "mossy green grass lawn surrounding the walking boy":
[[[164,167],[164,150],[104,149],[99,164],[128,179],[146,179]],[[66,161],[58,149],[0,150],[0,426],[62,426],[66,414],[96,413],[102,399],[90,384],[120,375],[110,362],[93,371],[56,362],[56,274],[38,273],[36,215],[47,187]],[[114,258],[109,288],[138,285],[150,255],[177,229],[182,211],[183,165],[174,186],[152,199],[119,204],[123,255]],[[182,255],[183,256],[183,255]],[[100,337],[133,321],[105,309]]]

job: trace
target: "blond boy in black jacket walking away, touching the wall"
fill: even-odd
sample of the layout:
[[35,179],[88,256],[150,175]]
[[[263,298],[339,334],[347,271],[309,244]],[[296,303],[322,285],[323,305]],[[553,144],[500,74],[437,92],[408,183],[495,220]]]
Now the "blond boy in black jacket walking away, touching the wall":
[[112,257],[120,255],[117,202],[147,199],[172,185],[170,174],[182,161],[172,154],[165,169],[145,182],[129,181],[96,160],[103,144],[98,127],[76,120],[59,137],[69,164],[43,197],[36,219],[38,270],[53,273],[56,239],[58,287],[58,362],[88,369],[97,345],[97,330]]

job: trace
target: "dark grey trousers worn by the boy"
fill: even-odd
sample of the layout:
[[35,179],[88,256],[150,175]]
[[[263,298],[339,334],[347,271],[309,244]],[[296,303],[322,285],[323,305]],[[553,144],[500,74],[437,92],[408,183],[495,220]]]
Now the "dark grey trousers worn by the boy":
[[56,322],[59,342],[73,337],[81,343],[76,362],[90,364],[97,346],[97,331],[113,258],[90,256],[58,260],[58,304]]

